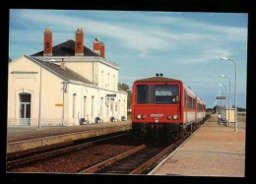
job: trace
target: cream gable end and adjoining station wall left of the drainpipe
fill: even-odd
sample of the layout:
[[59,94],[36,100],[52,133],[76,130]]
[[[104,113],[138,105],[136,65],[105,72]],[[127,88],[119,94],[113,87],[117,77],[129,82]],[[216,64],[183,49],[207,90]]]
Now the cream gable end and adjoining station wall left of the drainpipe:
[[[17,74],[17,72],[23,72]],[[27,74],[26,72],[33,72]],[[42,69],[41,125],[59,124],[62,120],[62,80]],[[31,94],[31,125],[38,124],[40,67],[26,57],[9,64],[8,125],[19,125],[20,93]]]

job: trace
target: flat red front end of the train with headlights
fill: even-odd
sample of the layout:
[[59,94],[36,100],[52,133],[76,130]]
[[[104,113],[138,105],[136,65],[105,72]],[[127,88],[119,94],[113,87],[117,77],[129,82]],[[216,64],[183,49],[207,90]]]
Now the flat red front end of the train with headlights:
[[133,85],[132,130],[135,138],[175,137],[183,122],[183,83],[156,77]]

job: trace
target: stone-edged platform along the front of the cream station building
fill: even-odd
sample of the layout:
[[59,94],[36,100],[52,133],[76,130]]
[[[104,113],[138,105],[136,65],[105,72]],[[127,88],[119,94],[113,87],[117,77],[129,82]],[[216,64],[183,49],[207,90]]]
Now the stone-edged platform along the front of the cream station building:
[[130,130],[131,120],[94,123],[79,126],[9,126],[7,127],[7,153],[62,144],[75,140]]

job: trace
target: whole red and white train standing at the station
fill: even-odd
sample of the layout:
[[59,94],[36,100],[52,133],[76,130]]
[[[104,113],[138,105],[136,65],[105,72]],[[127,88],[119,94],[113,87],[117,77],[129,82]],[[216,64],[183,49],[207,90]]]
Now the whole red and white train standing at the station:
[[132,130],[138,137],[176,135],[205,118],[205,102],[180,80],[153,77],[135,81]]

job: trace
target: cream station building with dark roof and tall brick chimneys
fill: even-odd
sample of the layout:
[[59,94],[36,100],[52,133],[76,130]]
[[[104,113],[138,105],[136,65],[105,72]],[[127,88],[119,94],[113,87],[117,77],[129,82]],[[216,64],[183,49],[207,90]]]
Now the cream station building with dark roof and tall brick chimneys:
[[84,31],[52,45],[45,29],[43,50],[9,63],[8,126],[76,126],[87,120],[127,118],[127,92],[118,89],[120,66],[105,58],[98,38],[84,45]]

